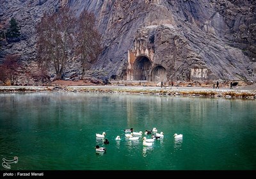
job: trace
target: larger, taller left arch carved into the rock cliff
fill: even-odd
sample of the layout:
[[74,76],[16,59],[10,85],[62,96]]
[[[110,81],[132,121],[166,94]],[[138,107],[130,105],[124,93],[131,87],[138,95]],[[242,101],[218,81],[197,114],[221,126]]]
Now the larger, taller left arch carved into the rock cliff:
[[133,64],[133,80],[150,80],[152,62],[147,56],[138,56]]

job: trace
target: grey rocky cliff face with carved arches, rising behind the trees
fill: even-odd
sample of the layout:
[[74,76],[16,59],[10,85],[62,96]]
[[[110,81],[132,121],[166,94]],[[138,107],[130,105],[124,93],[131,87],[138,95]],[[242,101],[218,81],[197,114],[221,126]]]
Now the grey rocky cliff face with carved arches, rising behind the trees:
[[91,75],[147,81],[256,81],[255,1],[29,2],[34,3],[0,0],[1,22],[14,16],[28,35],[17,47],[4,49],[0,58],[17,52],[24,54],[24,60],[33,59],[36,22],[43,12],[54,13],[69,6],[77,15],[86,9],[97,17],[104,51],[93,64]]

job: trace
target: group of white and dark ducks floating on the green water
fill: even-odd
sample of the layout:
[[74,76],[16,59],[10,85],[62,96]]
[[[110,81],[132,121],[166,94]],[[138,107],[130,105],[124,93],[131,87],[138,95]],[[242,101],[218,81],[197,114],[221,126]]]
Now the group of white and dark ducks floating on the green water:
[[[127,137],[127,139],[129,139],[131,141],[139,140],[143,134],[142,131],[134,132],[133,128],[124,129],[124,132],[125,132],[125,137]],[[145,130],[144,134],[145,134],[145,136],[143,137],[143,146],[152,146],[156,139],[163,139],[163,137],[164,137],[163,132],[157,133],[156,127],[154,127],[152,130]],[[149,134],[151,134],[151,138],[148,139],[146,136],[148,136]],[[106,136],[106,132],[102,132],[102,134],[96,134],[97,138],[104,139],[105,136]],[[173,137],[175,139],[182,139],[183,135],[182,134],[174,134]],[[116,141],[119,141],[119,140],[121,140],[120,136],[116,136]],[[109,143],[108,139],[105,139],[104,144],[108,144],[108,143]],[[106,152],[105,147],[100,147],[99,145],[97,145],[95,148],[96,148],[96,152]]]

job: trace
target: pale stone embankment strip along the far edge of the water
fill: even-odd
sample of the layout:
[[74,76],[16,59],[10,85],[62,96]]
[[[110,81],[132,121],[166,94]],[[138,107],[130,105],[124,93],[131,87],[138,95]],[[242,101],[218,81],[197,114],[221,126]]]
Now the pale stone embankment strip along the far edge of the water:
[[256,89],[243,88],[202,88],[202,87],[170,87],[163,86],[0,86],[0,93],[17,92],[91,92],[91,93],[124,93],[162,96],[191,96],[191,97],[225,97],[256,99]]

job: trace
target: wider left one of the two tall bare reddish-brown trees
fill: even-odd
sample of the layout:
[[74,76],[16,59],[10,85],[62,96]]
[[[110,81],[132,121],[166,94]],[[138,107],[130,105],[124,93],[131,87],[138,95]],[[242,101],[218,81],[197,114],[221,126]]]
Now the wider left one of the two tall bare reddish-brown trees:
[[38,61],[45,68],[54,67],[56,79],[61,79],[68,59],[74,52],[76,16],[68,8],[54,15],[45,15],[38,24]]

